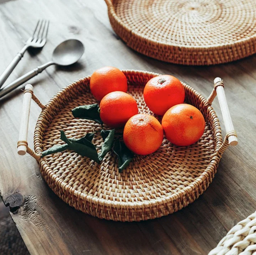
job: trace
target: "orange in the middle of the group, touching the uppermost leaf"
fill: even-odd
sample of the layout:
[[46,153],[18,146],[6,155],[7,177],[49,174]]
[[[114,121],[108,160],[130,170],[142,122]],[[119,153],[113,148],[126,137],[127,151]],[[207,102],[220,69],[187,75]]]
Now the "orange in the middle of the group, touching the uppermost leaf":
[[123,127],[137,113],[135,99],[123,91],[110,92],[100,101],[100,118],[111,128]]

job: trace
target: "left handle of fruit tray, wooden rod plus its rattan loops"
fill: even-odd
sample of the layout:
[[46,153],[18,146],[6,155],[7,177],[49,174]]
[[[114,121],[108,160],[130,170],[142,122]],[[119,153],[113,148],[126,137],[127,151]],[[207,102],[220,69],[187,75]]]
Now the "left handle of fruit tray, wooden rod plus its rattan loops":
[[21,125],[20,125],[20,134],[17,143],[17,151],[19,155],[25,155],[29,153],[36,160],[39,160],[41,156],[35,153],[30,147],[28,147],[28,120],[30,115],[30,105],[31,99],[33,99],[41,108],[45,106],[38,100],[37,97],[33,94],[33,86],[31,84],[27,84],[24,90],[24,98],[23,98],[23,111],[21,113]]

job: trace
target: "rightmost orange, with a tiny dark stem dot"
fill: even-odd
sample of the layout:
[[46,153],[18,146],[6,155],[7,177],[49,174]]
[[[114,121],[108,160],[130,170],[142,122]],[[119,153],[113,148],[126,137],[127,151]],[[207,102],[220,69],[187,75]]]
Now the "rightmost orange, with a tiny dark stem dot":
[[171,107],[163,116],[162,126],[166,138],[178,146],[197,142],[204,133],[205,120],[202,113],[189,104]]

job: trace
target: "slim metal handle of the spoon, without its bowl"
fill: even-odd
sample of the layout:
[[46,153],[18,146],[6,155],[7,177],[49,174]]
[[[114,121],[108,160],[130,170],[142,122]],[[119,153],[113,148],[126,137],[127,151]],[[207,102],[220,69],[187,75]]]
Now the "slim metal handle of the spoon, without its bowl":
[[47,68],[48,66],[51,66],[52,64],[54,64],[54,62],[48,62],[48,63],[42,64],[41,66],[38,66],[32,71],[24,74],[23,76],[13,81],[12,83],[6,85],[6,87],[0,90],[0,98],[8,94],[10,91],[14,90],[24,82],[30,80],[32,77],[37,76],[37,74],[41,73],[45,68]]

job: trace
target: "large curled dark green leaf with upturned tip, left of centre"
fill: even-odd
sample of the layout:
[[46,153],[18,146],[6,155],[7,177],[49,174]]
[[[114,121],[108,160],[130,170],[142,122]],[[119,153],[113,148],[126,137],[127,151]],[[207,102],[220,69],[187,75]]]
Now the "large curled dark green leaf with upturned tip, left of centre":
[[[86,137],[86,136],[85,136]],[[78,140],[68,139],[63,130],[61,130],[61,140],[68,144],[68,148],[74,150],[77,154],[91,158],[99,163],[98,153],[94,144],[82,137]]]

